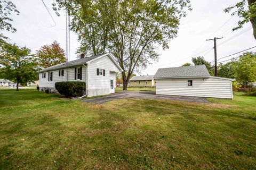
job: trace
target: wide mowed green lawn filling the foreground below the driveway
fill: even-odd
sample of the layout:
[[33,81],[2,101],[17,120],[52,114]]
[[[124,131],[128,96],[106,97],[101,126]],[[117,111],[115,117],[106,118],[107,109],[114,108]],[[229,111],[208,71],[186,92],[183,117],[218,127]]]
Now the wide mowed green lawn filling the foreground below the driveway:
[[0,169],[256,169],[256,97],[210,101],[0,90]]

